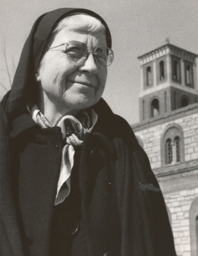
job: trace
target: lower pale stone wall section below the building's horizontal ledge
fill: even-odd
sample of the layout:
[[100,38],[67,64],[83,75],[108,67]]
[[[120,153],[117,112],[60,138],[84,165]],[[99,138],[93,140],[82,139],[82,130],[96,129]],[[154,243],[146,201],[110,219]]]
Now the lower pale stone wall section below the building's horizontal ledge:
[[[196,171],[198,171],[198,169],[196,169]],[[173,179],[172,181],[160,182],[162,193],[166,201],[166,206],[171,216],[170,222],[173,230],[177,256],[197,255],[196,222],[195,218],[190,220],[193,201],[198,198],[197,179],[198,175],[196,175],[196,177],[186,177],[185,181],[184,178],[177,178],[177,180]],[[188,185],[189,183],[190,185]],[[167,189],[167,187],[169,189]],[[170,187],[172,189],[170,189]],[[191,222],[194,223],[191,225]],[[192,240],[195,243],[194,246],[192,246]]]

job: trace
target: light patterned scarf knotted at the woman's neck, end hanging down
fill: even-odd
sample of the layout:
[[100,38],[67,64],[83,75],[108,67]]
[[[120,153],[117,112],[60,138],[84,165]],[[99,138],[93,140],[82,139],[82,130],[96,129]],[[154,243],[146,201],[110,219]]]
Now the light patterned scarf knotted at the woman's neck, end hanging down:
[[[52,125],[48,119],[44,117],[44,114],[40,112],[37,105],[32,107],[32,119],[42,128],[52,128]],[[62,151],[62,161],[55,197],[55,205],[62,203],[70,194],[70,174],[74,166],[74,149],[82,146],[85,133],[91,132],[93,126],[97,122],[97,114],[94,113],[93,110],[92,122],[93,125],[90,127],[91,121],[89,115],[85,110],[82,110],[78,113],[77,117],[67,115],[59,120],[59,123],[56,125],[61,128],[65,146]]]

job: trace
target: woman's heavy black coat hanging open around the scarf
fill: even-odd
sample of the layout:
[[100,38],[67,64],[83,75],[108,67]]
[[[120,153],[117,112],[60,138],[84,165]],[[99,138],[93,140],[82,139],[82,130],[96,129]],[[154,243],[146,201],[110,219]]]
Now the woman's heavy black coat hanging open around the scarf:
[[[78,178],[87,255],[107,251],[117,256],[176,255],[161,191],[143,190],[139,185],[158,188],[147,155],[127,122],[113,114],[105,101],[99,101],[94,110],[99,119],[84,140]],[[31,255],[47,256],[61,132],[41,129],[28,113],[14,118],[11,128],[3,109],[1,119],[2,255],[26,256],[30,248]],[[12,153],[13,159],[10,143],[12,152],[19,154]]]

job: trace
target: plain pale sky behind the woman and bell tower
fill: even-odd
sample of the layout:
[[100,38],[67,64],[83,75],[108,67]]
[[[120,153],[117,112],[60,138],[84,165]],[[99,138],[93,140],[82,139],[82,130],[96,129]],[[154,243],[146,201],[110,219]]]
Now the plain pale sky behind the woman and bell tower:
[[33,22],[58,8],[93,10],[109,25],[115,59],[103,97],[129,124],[139,122],[137,57],[166,44],[166,37],[198,54],[198,0],[1,0],[0,6],[0,97],[10,89],[7,70],[13,78]]

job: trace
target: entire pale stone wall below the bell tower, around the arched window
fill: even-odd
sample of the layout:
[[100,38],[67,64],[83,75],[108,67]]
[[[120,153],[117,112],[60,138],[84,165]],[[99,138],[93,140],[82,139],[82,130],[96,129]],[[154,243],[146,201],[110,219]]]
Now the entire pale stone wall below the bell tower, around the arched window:
[[[166,129],[181,128],[184,161],[165,164],[163,136]],[[169,212],[177,256],[197,256],[198,241],[198,104],[132,126],[147,152]],[[196,204],[195,204],[196,203]]]

